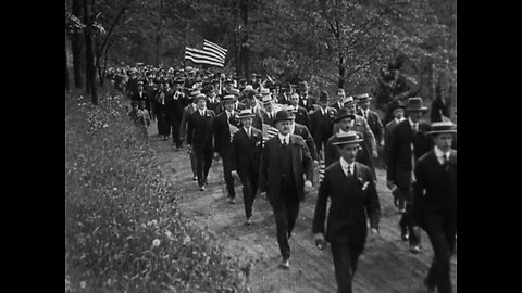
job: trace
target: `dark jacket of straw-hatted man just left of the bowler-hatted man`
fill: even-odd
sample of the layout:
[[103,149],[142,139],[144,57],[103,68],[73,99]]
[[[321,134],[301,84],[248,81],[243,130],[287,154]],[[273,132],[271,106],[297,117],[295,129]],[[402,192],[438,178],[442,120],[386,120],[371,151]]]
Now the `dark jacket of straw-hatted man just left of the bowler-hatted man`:
[[234,133],[232,140],[231,168],[237,170],[239,176],[249,174],[251,169],[259,173],[263,132],[252,127],[252,135],[249,138],[245,128]]

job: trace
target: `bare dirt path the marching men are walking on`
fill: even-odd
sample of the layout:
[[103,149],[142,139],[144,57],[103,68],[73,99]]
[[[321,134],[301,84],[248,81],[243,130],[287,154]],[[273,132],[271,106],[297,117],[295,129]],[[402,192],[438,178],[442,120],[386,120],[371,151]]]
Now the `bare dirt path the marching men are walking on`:
[[[158,137],[156,123],[149,128],[149,143],[157,151],[160,165],[179,188],[182,212],[194,224],[210,230],[225,252],[235,255],[241,265],[252,262],[249,273],[251,292],[335,292],[334,266],[330,250],[319,251],[313,245],[311,221],[316,192],[307,196],[299,213],[295,233],[290,239],[290,269],[277,268],[281,262],[275,238],[275,220],[269,203],[261,198],[254,202],[253,224],[245,226],[241,188],[236,183],[236,204],[226,202],[221,162],[214,162],[209,174],[209,186],[199,191],[191,179],[188,154],[176,152],[172,139]],[[355,292],[417,293],[423,292],[422,281],[427,273],[433,251],[427,235],[422,234],[422,252],[412,255],[407,242],[400,241],[399,214],[385,187],[385,173],[377,169],[377,190],[381,199],[381,238],[368,243],[359,260]],[[453,292],[457,292],[457,257],[451,259]]]

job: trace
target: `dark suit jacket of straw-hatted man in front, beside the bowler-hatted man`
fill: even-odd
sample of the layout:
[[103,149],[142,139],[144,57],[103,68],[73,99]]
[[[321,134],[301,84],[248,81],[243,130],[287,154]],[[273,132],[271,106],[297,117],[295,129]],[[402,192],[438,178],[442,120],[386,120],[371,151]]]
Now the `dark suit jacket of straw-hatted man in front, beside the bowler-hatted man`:
[[[331,199],[325,240],[333,244],[346,244],[357,239],[363,244],[366,237],[366,215],[370,226],[378,229],[381,205],[370,168],[355,163],[355,180],[350,181],[337,161],[324,171],[319,187],[313,233],[325,231],[326,202]],[[368,182],[364,190],[363,186]]]

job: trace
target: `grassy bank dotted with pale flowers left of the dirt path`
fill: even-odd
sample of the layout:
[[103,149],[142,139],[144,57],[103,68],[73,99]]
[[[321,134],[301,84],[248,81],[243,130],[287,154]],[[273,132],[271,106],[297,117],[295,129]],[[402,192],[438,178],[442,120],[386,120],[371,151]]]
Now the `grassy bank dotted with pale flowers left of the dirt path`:
[[66,292],[243,292],[245,277],[181,214],[119,97],[65,99]]

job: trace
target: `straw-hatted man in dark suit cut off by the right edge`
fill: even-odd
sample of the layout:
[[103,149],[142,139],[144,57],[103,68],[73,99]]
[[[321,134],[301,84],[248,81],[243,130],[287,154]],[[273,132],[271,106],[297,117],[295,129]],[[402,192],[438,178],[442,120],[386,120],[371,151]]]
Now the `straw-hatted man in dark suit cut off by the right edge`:
[[432,242],[434,257],[424,284],[427,292],[451,292],[450,258],[457,234],[457,151],[451,149],[457,133],[451,122],[432,124],[435,148],[415,164],[412,218]]

